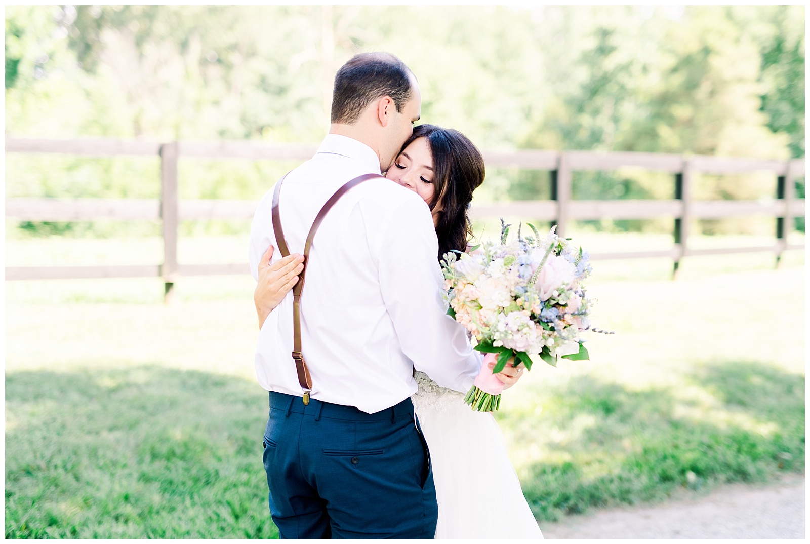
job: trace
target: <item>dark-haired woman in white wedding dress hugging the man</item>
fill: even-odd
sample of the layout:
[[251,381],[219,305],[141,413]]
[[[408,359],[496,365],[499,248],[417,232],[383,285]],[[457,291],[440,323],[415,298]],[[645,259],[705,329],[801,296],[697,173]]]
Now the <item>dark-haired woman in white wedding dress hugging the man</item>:
[[[467,249],[467,210],[472,192],[484,182],[484,159],[466,136],[434,125],[414,127],[386,178],[416,191],[428,204],[438,259],[448,251]],[[272,251],[271,246],[259,263],[259,276],[266,277],[254,293],[260,322],[301,272],[301,261],[292,255],[269,265]],[[518,368],[518,376],[521,371]],[[440,388],[422,372],[415,377],[419,391],[411,400],[428,442],[436,483],[436,538],[543,538],[492,413],[465,405],[465,392]],[[517,381],[508,375],[499,378],[506,387]]]

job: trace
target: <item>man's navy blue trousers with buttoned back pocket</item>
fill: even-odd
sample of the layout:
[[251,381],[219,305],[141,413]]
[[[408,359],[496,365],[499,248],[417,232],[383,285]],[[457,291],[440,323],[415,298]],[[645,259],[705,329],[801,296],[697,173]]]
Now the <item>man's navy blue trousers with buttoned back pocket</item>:
[[377,413],[270,392],[270,512],[281,538],[433,538],[438,506],[411,399]]

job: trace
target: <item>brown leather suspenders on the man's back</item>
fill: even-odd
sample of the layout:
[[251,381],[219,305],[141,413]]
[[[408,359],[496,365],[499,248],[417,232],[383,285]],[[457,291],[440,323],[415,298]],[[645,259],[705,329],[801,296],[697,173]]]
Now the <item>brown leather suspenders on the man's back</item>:
[[[282,257],[290,255],[287,241],[284,239],[284,231],[281,228],[281,217],[279,216],[279,194],[281,192],[281,184],[284,182],[285,178],[287,178],[287,174],[275,185],[272,210],[275,242],[279,246]],[[315,232],[318,231],[318,226],[321,225],[321,221],[323,221],[323,218],[326,216],[326,213],[329,212],[330,208],[335,205],[335,202],[337,202],[341,196],[345,195],[347,191],[352,189],[352,187],[360,185],[360,183],[371,178],[382,178],[382,176],[378,173],[364,173],[362,176],[352,179],[352,181],[347,182],[335,191],[335,194],[332,195],[330,199],[326,200],[323,208],[318,212],[318,216],[315,216],[315,221],[312,227],[310,227],[309,234],[307,234],[306,237],[306,243],[304,245],[304,270],[301,271],[301,274],[298,276],[298,282],[292,288],[292,359],[296,362],[298,383],[301,385],[301,389],[304,390],[305,405],[309,405],[309,392],[312,391],[312,376],[309,375],[309,368],[307,368],[304,355],[301,353],[301,291],[304,290],[304,275],[306,273],[307,262],[309,261],[309,248],[312,246],[312,240],[315,238]]]

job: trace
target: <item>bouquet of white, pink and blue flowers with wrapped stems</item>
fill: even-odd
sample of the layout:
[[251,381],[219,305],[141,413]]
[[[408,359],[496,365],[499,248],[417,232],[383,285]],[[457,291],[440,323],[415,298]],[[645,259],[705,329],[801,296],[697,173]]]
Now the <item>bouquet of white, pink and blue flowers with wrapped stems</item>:
[[[490,412],[501,404],[503,383],[494,375],[510,358],[531,369],[530,354],[556,366],[559,358],[583,360],[588,350],[580,331],[590,328],[593,300],[582,288],[590,274],[588,252],[556,235],[556,226],[541,237],[521,236],[507,243],[509,226],[501,219],[501,243],[486,241],[469,253],[446,253],[448,314],[463,324],[487,353],[475,385],[464,401],[472,409]],[[604,332],[604,331],[599,331]],[[495,358],[490,372],[487,362]]]

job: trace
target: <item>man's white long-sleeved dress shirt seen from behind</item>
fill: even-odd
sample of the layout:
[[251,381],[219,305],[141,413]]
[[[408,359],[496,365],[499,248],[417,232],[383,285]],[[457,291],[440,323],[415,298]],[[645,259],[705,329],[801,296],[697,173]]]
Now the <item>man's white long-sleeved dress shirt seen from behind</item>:
[[[289,250],[303,253],[315,216],[352,178],[380,173],[364,143],[327,135],[312,159],[284,180],[279,210]],[[274,187],[275,188],[275,187]],[[250,271],[267,247],[281,259],[271,207],[273,189],[250,229]],[[443,388],[467,392],[483,356],[446,315],[444,278],[428,205],[413,191],[374,178],[348,191],[324,218],[309,251],[301,295],[301,346],[311,396],[374,413],[416,392],[412,369]],[[259,332],[256,375],[262,388],[301,396],[292,360],[292,291]]]

